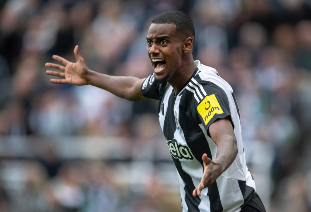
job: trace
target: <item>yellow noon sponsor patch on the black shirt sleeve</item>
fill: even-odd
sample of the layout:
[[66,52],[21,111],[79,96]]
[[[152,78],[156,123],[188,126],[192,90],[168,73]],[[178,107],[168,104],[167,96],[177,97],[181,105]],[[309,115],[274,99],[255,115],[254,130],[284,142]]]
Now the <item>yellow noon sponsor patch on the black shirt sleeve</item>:
[[197,106],[197,112],[202,116],[205,125],[214,117],[214,115],[224,113],[218,103],[215,94],[206,96]]

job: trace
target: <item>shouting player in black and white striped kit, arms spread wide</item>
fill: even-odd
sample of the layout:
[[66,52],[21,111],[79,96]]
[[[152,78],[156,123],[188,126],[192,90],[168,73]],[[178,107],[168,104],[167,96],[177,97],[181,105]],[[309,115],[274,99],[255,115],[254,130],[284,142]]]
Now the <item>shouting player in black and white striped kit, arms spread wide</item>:
[[159,100],[159,120],[177,169],[182,211],[266,211],[249,172],[241,136],[239,107],[231,86],[211,67],[193,59],[195,30],[180,11],[156,16],[149,27],[147,53],[153,73],[144,79],[91,71],[74,48],[76,62],[46,63],[52,83],[94,85],[139,101]]

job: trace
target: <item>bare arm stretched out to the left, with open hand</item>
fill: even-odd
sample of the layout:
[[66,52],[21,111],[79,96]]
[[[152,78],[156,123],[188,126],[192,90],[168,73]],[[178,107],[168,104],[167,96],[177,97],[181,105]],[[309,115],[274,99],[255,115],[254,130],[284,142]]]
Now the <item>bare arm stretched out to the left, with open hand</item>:
[[52,83],[72,84],[72,85],[94,85],[109,91],[110,93],[128,99],[131,101],[139,101],[147,99],[142,95],[140,87],[145,79],[139,79],[132,76],[110,76],[91,71],[84,62],[79,53],[78,45],[74,48],[76,62],[70,62],[65,58],[53,55],[53,59],[62,63],[45,63],[45,67],[55,68],[59,71],[47,70],[46,74],[61,77],[61,79],[51,79]]

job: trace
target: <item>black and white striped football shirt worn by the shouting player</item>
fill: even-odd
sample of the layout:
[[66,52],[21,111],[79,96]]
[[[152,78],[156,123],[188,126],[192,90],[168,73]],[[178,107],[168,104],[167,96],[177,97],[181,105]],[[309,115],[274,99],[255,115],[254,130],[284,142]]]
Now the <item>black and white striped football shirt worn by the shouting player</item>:
[[[231,86],[211,67],[195,61],[197,69],[174,95],[169,83],[157,83],[154,74],[142,84],[142,94],[159,100],[159,120],[175,163],[183,211],[239,211],[253,197],[255,183],[245,163],[239,108]],[[210,187],[193,197],[201,182],[202,155],[216,158],[217,146],[208,127],[228,118],[234,127],[238,155]]]

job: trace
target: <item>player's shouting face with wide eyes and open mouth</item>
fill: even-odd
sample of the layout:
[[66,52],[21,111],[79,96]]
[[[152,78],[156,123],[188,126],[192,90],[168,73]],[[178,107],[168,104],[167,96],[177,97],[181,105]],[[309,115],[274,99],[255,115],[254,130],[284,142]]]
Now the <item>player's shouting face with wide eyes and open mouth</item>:
[[174,24],[151,24],[147,34],[148,56],[155,80],[177,80],[182,63],[183,39],[177,36]]

